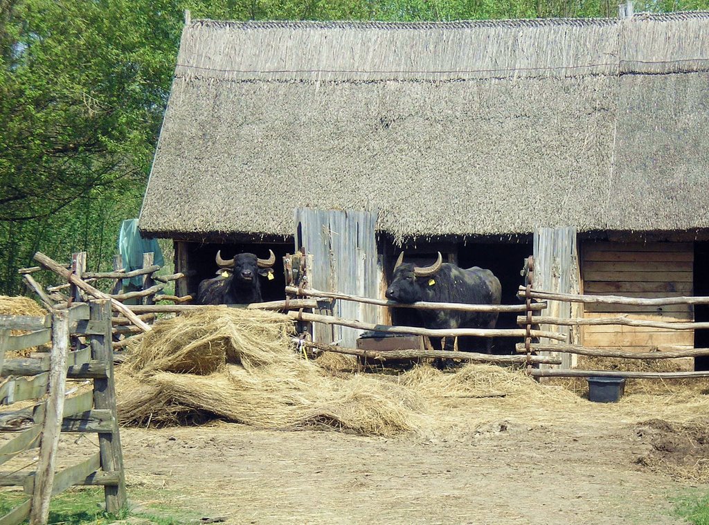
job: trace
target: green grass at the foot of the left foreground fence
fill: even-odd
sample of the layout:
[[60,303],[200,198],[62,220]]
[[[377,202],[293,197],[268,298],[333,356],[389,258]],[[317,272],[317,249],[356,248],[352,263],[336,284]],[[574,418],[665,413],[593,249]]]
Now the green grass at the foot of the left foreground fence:
[[[27,499],[28,496],[23,492],[0,492],[0,516],[4,516]],[[104,490],[101,487],[75,487],[67,490],[52,497],[48,524],[108,524],[126,519],[128,516],[147,519],[157,525],[183,525],[188,521],[196,521],[192,516],[190,516],[191,519],[186,516],[177,517],[176,514],[179,510],[174,507],[167,510],[152,507],[131,507],[129,504],[128,508],[119,514],[110,514],[102,508],[103,503]]]

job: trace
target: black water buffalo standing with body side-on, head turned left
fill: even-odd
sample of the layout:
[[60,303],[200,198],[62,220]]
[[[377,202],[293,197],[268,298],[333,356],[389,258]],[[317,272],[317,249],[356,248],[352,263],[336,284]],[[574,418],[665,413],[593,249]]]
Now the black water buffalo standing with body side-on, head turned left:
[[[414,266],[403,263],[403,252],[394,266],[391,285],[386,289],[386,298],[398,303],[430,301],[433,303],[468,303],[477,305],[500,304],[502,287],[489,270],[473,266],[463,269],[455,264],[438,259],[431,266]],[[497,312],[462,312],[459,310],[416,310],[429,329],[494,328]],[[435,348],[440,348],[440,338],[431,338]],[[481,339],[481,338],[475,338]],[[453,337],[446,337],[445,350],[453,349]],[[476,344],[491,353],[492,339]],[[436,361],[437,366],[442,361]],[[450,364],[448,361],[445,364]]]

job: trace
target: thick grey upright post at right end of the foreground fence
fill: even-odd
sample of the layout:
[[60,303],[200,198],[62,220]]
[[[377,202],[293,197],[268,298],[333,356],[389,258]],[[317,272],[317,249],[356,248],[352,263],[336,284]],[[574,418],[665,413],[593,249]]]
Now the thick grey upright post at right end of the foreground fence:
[[[91,359],[106,363],[108,373],[103,379],[94,379],[94,408],[111,410],[113,428],[110,432],[99,432],[99,452],[101,468],[104,472],[116,473],[118,485],[106,485],[106,511],[118,512],[125,505],[125,474],[123,473],[123,455],[121,436],[118,434],[116,416],[116,387],[113,383],[113,348],[111,343],[111,303],[108,300],[94,300],[90,305],[89,319],[101,322],[104,333],[91,334]],[[95,323],[97,324],[97,323]]]

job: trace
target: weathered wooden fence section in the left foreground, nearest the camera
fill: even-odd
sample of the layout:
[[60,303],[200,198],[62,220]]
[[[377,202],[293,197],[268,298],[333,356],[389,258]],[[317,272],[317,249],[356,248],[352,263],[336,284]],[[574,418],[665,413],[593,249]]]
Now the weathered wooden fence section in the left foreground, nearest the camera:
[[[11,335],[11,330],[24,330]],[[28,358],[6,358],[6,352],[51,344],[48,352]],[[121,439],[116,418],[111,349],[111,305],[108,300],[76,303],[46,317],[0,316],[0,404],[39,400],[29,408],[0,412],[0,431],[16,432],[0,446],[0,464],[39,447],[36,469],[0,472],[0,485],[20,486],[29,496],[0,524],[45,524],[50,498],[72,485],[103,485],[106,510],[125,505]],[[93,382],[93,388],[70,395],[69,380]],[[88,381],[87,381],[88,380]],[[55,472],[60,432],[98,434],[99,451]]]

